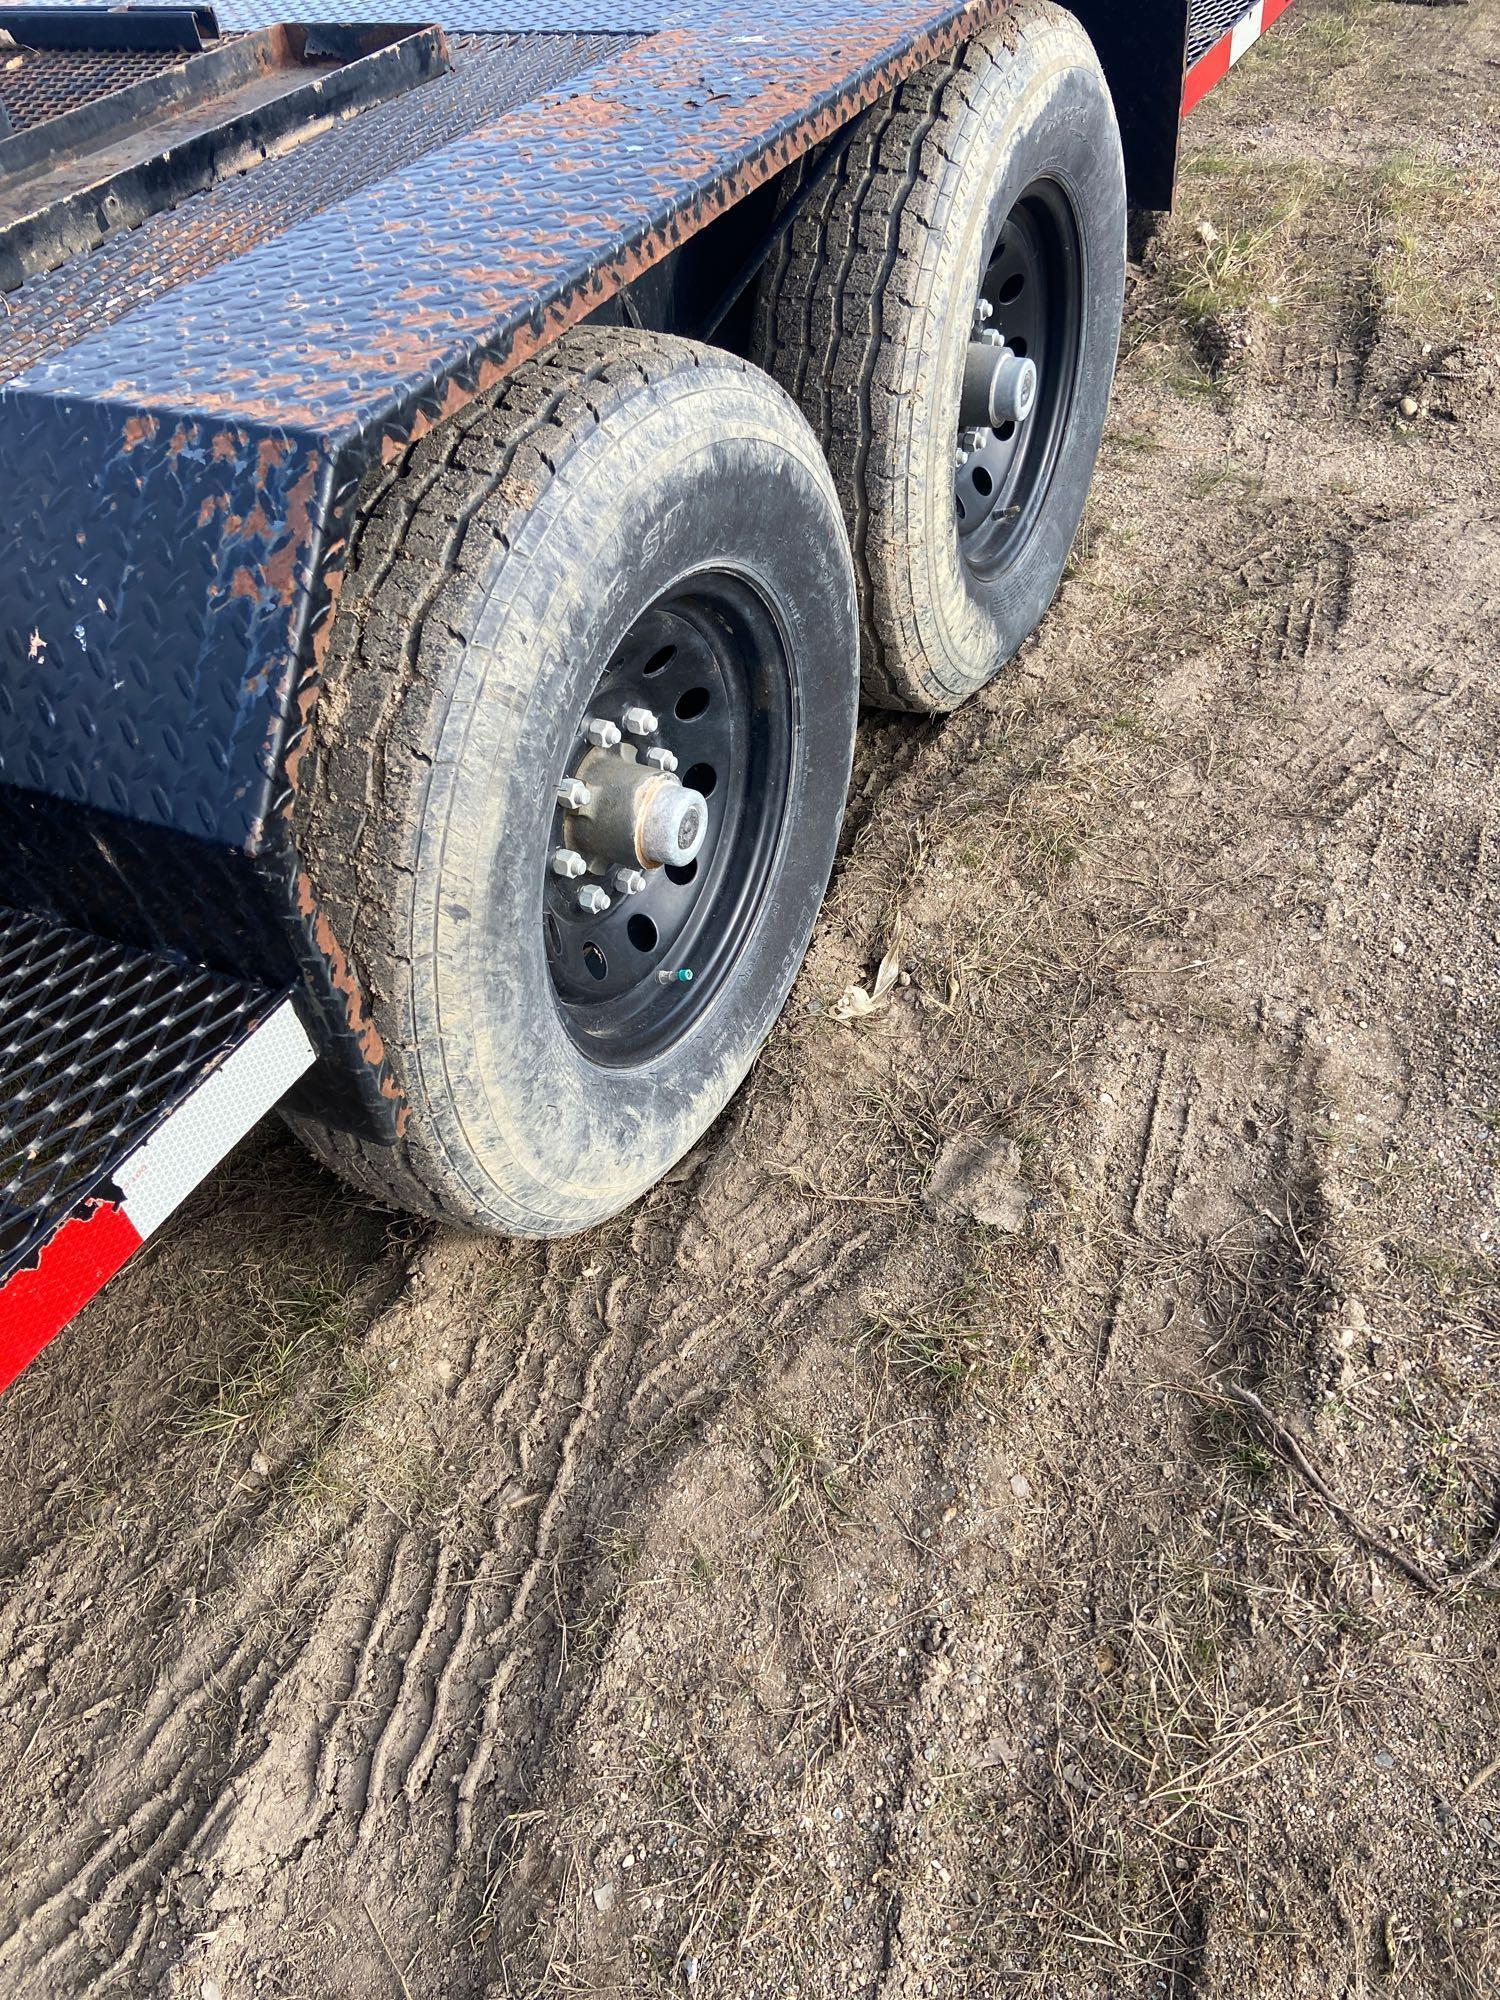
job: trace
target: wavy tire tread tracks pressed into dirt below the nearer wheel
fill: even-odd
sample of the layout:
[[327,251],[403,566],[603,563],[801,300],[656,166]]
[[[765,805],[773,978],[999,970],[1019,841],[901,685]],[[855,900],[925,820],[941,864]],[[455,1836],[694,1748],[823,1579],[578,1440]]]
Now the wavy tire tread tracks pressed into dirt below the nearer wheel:
[[[370,1330],[376,1352],[414,1362],[406,1394],[428,1424],[462,1440],[444,1504],[402,1520],[376,1496],[324,1548],[264,1496],[224,1522],[220,1580],[196,1606],[204,1636],[168,1620],[140,1720],[16,1850],[14,1872],[36,1882],[0,1938],[18,2000],[148,1980],[182,1950],[184,1876],[212,1898],[252,1866],[306,1868],[312,1848],[350,1894],[378,1882],[394,1928],[402,1912],[474,1918],[496,1832],[586,1696],[570,1632],[602,1612],[596,1650],[608,1636],[608,1600],[594,1598],[610,1524],[670,1464],[674,1414],[702,1420],[726,1360],[838,1286],[868,1238],[788,1230],[780,1188],[740,1206],[734,1160],[710,1152],[706,1172],[722,1182],[708,1214],[728,1220],[734,1204],[736,1232],[694,1218],[688,1298],[674,1296],[682,1234],[632,1218],[588,1250],[628,1282],[600,1282],[570,1246],[418,1248],[408,1296],[496,1256],[534,1284],[524,1318],[466,1342],[448,1382],[414,1350],[408,1296]],[[670,1190],[658,1200],[670,1206]],[[714,1278],[724,1290],[704,1312]],[[158,1560],[162,1602],[192,1588],[200,1550],[162,1534]],[[272,1628],[284,1636],[266,1644]],[[96,1632],[94,1658],[106,1650]]]

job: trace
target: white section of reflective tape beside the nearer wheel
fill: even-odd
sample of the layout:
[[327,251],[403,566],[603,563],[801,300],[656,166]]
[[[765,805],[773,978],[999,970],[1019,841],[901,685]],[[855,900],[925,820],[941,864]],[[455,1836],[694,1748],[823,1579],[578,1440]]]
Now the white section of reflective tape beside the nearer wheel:
[[310,1066],[312,1042],[284,1000],[116,1172],[120,1206],[142,1238],[166,1222]]

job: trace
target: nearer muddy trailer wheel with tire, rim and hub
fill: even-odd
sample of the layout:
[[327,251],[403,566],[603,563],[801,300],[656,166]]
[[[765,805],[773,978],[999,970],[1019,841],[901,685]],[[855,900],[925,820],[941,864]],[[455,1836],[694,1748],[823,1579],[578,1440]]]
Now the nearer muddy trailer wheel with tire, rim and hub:
[[722,1110],[834,860],[858,640],[828,468],[762,372],[582,330],[424,438],[352,540],[308,872],[406,1100],[378,1198],[556,1236]]

